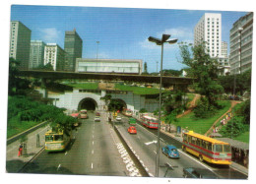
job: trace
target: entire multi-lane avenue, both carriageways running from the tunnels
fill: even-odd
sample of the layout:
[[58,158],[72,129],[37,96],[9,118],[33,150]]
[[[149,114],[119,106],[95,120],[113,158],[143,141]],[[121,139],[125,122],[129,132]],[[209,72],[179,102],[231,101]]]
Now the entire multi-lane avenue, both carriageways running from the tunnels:
[[[125,151],[118,139],[113,123],[107,122],[107,114],[101,112],[100,122],[95,122],[95,113],[89,114],[89,119],[83,120],[81,126],[74,130],[72,143],[65,152],[42,152],[30,162],[22,172],[24,173],[52,173],[77,175],[104,176],[141,176],[132,158]],[[151,176],[156,173],[157,130],[150,130],[137,122],[136,135],[130,135],[128,118],[115,126],[126,143],[143,163]],[[182,178],[183,168],[197,167],[210,170],[219,178],[246,179],[244,175],[231,167],[215,166],[202,163],[197,157],[183,153],[181,143],[175,139],[160,134],[160,148],[165,145],[177,147],[180,158],[172,159],[160,153],[160,177]],[[166,164],[173,166],[168,169]]]

